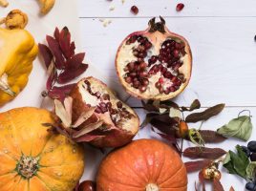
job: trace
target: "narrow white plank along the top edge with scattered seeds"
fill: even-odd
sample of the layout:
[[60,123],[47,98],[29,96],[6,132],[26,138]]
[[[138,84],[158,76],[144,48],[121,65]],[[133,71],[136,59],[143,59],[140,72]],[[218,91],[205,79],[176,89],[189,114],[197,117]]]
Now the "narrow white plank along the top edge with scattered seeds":
[[[153,16],[256,16],[254,0],[79,0],[79,16],[81,17],[153,17]],[[182,2],[185,7],[181,12],[176,11],[176,5]],[[136,5],[139,14],[134,15],[130,8]],[[110,9],[114,7],[114,11]]]

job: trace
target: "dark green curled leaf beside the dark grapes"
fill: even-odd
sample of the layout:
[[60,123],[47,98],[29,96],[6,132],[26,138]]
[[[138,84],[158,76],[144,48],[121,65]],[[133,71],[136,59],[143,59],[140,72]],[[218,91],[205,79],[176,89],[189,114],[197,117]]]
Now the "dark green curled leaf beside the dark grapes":
[[229,151],[224,159],[224,168],[226,168],[229,174],[236,174],[246,179],[246,168],[249,164],[249,159],[245,155],[241,146],[236,146],[237,153]]

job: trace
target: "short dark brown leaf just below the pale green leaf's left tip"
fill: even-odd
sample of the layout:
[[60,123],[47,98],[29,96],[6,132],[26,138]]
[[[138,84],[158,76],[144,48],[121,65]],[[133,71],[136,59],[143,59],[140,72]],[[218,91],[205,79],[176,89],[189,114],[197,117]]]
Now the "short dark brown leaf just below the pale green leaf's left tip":
[[199,133],[205,143],[220,143],[220,142],[223,142],[225,139],[227,139],[215,131],[200,130]]

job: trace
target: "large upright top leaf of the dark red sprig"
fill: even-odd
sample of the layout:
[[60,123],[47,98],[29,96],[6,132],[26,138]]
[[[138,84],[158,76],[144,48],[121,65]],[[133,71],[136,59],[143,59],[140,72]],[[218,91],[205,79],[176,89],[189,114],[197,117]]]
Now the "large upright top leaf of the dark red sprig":
[[71,47],[71,33],[67,27],[64,27],[59,34],[59,46],[66,57],[66,59],[70,58],[75,54],[74,46]]

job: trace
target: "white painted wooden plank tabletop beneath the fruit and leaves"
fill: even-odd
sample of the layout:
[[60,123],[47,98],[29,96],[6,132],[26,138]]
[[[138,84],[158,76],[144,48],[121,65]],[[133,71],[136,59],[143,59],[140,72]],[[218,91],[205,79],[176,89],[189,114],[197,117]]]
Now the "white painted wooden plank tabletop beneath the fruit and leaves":
[[[173,32],[185,36],[193,53],[193,74],[184,93],[177,101],[189,105],[199,98],[203,107],[224,102],[224,112],[203,124],[204,129],[217,129],[229,119],[237,117],[244,109],[256,114],[256,1],[254,0],[182,0],[183,11],[175,11],[178,0],[79,0],[79,23],[82,33],[82,48],[95,66],[117,80],[115,56],[117,47],[130,32],[146,29],[147,22],[154,16],[163,16]],[[131,6],[139,8],[139,14],[130,12]],[[114,6],[115,10],[110,11]],[[104,28],[100,18],[111,19]],[[138,107],[139,100],[129,101]],[[136,110],[143,119],[144,112]],[[255,117],[252,118],[256,124]],[[191,127],[199,127],[192,124]],[[150,134],[148,130],[147,133]],[[253,138],[256,139],[253,130]],[[146,133],[139,133],[140,138]],[[141,136],[142,135],[142,136]],[[151,137],[152,133],[150,136]],[[156,136],[153,136],[156,137]],[[251,138],[251,139],[253,139]],[[233,149],[239,142],[228,140],[218,146]],[[90,159],[91,158],[91,159]],[[90,164],[96,159],[91,156]],[[185,159],[186,160],[186,159]],[[90,168],[90,167],[89,167]],[[85,173],[83,179],[94,177],[95,172]],[[244,190],[245,181],[223,173],[225,190],[231,185],[235,190]],[[189,175],[189,191],[194,190],[197,174]]]

